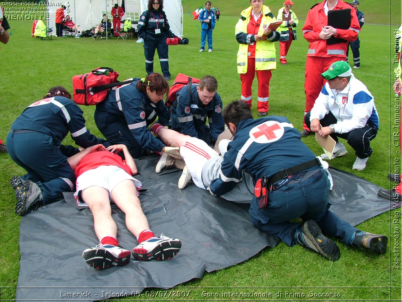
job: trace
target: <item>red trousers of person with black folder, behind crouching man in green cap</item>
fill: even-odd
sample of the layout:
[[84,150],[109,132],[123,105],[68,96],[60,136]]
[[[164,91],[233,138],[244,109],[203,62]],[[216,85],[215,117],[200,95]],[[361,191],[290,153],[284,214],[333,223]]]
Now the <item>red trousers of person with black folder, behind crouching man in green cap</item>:
[[[310,112],[314,106],[318,95],[326,81],[321,74],[328,70],[329,66],[336,61],[345,61],[342,57],[307,57],[306,70],[304,73],[304,93],[306,93],[306,108],[304,114]],[[310,129],[306,126],[303,119],[303,129]]]

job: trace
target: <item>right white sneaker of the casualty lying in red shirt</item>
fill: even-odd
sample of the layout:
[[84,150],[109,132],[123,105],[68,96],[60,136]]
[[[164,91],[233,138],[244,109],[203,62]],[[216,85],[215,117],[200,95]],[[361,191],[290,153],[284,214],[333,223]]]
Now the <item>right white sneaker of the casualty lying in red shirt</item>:
[[135,260],[149,261],[168,260],[176,256],[181,248],[181,242],[178,239],[168,238],[161,234],[159,237],[152,237],[138,244],[131,253]]

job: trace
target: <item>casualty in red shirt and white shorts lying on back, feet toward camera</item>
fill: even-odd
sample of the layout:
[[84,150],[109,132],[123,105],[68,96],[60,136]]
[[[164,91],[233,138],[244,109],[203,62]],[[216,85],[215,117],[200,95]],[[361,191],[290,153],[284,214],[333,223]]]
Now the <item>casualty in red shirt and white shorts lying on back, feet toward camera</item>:
[[[115,154],[123,151],[125,160]],[[148,220],[138,199],[141,182],[132,177],[137,167],[125,145],[105,148],[95,145],[70,157],[68,163],[77,177],[74,197],[77,204],[86,203],[94,217],[94,228],[99,244],[82,253],[88,265],[105,269],[111,265],[126,265],[131,253],[136,260],[167,260],[180,248],[178,239],[156,237],[150,231]],[[137,245],[130,252],[119,247],[117,225],[112,218],[110,202],[113,201],[125,213],[127,229],[137,238]]]

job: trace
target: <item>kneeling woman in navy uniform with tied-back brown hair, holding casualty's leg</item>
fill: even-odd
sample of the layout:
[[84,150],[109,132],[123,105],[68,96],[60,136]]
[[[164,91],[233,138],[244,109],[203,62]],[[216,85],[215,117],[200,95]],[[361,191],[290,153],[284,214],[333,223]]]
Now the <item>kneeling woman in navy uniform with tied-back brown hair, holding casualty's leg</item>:
[[163,126],[168,125],[170,114],[162,100],[168,92],[168,82],[159,73],[115,87],[96,105],[96,126],[111,143],[126,145],[134,158],[141,157],[144,149],[162,151],[165,145],[147,126],[156,118]]

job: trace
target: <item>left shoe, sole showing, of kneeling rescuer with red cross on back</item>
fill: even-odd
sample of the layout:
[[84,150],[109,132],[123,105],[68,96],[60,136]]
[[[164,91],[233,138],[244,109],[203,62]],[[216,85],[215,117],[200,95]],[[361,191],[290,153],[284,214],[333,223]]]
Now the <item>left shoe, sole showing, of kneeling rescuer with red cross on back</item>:
[[300,230],[296,230],[295,243],[330,261],[337,261],[340,257],[336,243],[322,235],[320,227],[314,220],[306,221]]

